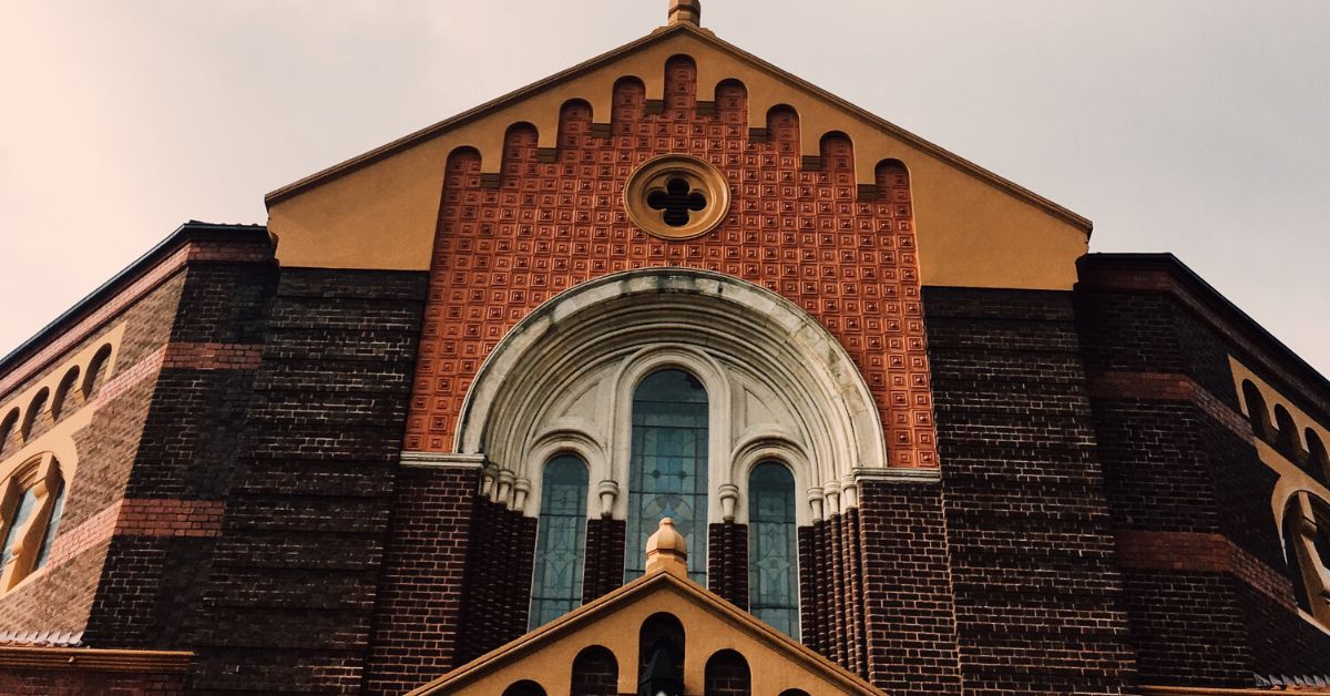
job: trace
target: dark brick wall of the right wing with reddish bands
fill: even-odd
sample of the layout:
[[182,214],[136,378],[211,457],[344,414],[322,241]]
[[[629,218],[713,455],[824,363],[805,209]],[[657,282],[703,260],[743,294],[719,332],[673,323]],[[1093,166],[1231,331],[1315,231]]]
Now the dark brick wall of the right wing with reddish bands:
[[[1294,609],[1299,580],[1270,511],[1278,476],[1252,443],[1229,355],[1271,383],[1301,367],[1262,353],[1258,331],[1176,262],[1133,263],[1088,258],[1075,302],[1140,679],[1330,673],[1330,639]],[[1305,389],[1294,401],[1315,413]]]

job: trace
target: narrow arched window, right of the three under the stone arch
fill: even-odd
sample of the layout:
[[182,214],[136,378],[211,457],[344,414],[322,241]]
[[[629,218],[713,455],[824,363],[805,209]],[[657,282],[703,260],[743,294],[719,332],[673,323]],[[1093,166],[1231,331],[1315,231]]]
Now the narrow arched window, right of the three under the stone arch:
[[749,499],[749,608],[758,619],[798,640],[794,475],[777,462],[753,467]]

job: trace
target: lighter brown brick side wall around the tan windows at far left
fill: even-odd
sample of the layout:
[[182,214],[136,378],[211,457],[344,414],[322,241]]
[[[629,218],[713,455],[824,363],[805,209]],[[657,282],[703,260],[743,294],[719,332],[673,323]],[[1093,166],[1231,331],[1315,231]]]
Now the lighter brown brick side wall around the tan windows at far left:
[[[185,291],[188,250],[209,237],[209,233],[180,236],[173,242],[174,252],[168,249],[172,253],[149,258],[137,274],[104,290],[100,303],[73,310],[7,358],[0,382],[9,389],[0,401],[51,378],[70,357],[106,345],[122,331],[114,365],[102,367],[94,391],[84,398],[73,390],[61,410],[61,421],[80,411],[93,413],[88,426],[72,435],[77,471],[66,480],[65,510],[48,563],[0,598],[0,631],[86,632],[86,641],[105,637],[97,635],[94,596],[104,596],[109,584],[108,550],[120,502],[142,447],[164,346],[170,341]],[[40,447],[55,425],[49,413],[39,418],[29,442]],[[0,455],[15,454],[17,446],[17,438],[11,438]]]

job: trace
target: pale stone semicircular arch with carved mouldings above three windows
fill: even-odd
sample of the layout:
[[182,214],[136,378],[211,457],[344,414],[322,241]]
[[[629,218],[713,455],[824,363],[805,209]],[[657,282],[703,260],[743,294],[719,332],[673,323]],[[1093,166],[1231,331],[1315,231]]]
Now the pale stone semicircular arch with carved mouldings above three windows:
[[[733,460],[773,455],[773,447],[810,502],[823,488],[853,486],[855,470],[887,464],[878,409],[845,347],[783,297],[696,269],[617,273],[537,307],[480,367],[455,451],[484,454],[536,491],[531,452],[576,434],[592,486],[624,487],[632,390],[666,366],[690,371],[708,389],[713,491],[746,486],[734,478]],[[600,452],[604,466],[596,464]],[[612,508],[624,519],[625,496]],[[710,522],[724,516],[712,495]],[[813,519],[814,508],[801,506],[799,523]]]

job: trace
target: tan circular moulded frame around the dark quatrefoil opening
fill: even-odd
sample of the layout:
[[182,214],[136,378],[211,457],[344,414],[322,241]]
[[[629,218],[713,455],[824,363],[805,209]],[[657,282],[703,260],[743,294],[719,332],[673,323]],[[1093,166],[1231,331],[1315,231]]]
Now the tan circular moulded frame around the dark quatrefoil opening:
[[[706,208],[689,216],[686,225],[665,222],[665,212],[646,204],[648,196],[664,192],[670,180],[682,178],[689,192],[706,198]],[[730,185],[712,162],[692,154],[661,154],[646,160],[624,186],[624,209],[642,232],[662,240],[692,240],[714,230],[730,210]]]

